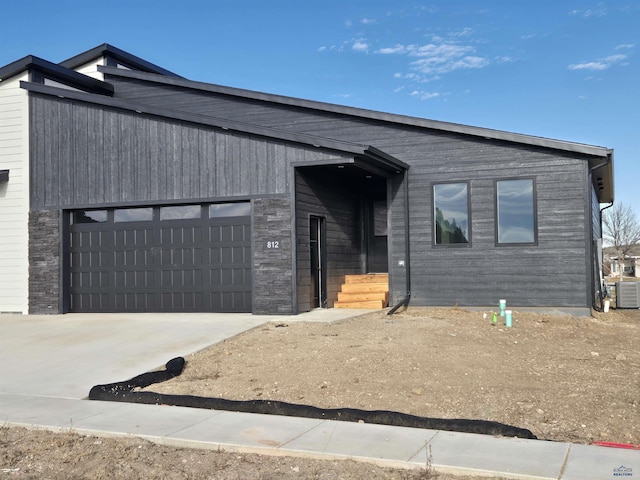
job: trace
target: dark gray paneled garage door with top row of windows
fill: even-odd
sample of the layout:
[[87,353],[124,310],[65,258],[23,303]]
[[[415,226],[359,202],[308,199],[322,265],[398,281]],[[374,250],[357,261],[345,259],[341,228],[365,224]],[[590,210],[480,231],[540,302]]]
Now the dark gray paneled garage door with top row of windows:
[[247,202],[71,213],[72,312],[251,312]]

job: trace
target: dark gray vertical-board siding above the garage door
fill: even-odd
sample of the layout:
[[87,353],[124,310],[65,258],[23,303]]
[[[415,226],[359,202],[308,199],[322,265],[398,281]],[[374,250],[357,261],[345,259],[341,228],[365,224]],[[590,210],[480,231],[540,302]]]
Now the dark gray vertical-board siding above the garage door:
[[32,207],[284,194],[292,162],[337,154],[32,95]]

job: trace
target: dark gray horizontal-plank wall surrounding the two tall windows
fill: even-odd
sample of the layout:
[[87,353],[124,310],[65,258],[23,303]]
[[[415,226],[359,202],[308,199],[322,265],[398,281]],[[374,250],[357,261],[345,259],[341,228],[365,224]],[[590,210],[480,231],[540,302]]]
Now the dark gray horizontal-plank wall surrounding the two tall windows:
[[[370,144],[409,164],[414,305],[494,305],[505,297],[521,306],[591,305],[591,192],[583,155],[122,77],[109,80],[120,97],[144,96],[166,108]],[[498,247],[495,180],[521,176],[536,181],[538,243]],[[469,182],[469,248],[433,245],[432,186],[446,181]],[[394,194],[391,205],[393,257],[402,255],[396,250],[404,234],[397,218],[401,199]],[[403,297],[404,270],[397,259],[390,268],[391,298]]]

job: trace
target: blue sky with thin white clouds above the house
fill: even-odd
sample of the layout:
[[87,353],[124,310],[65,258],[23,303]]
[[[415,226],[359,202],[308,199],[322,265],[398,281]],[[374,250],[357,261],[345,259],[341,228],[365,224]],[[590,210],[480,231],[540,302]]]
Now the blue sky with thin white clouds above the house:
[[637,0],[3,5],[0,65],[110,43],[184,77],[615,150],[640,216]]

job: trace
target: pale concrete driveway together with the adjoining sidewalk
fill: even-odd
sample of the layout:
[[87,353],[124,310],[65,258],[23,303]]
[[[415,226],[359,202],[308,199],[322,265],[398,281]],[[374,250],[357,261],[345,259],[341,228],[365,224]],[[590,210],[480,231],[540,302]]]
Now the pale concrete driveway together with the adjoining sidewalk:
[[[155,369],[268,321],[336,321],[331,309],[254,315],[0,315],[0,421],[186,447],[316,458],[503,478],[640,476],[640,451],[455,432],[183,407],[82,400],[96,384]],[[7,368],[10,367],[10,368]],[[634,475],[635,474],[635,475]]]

